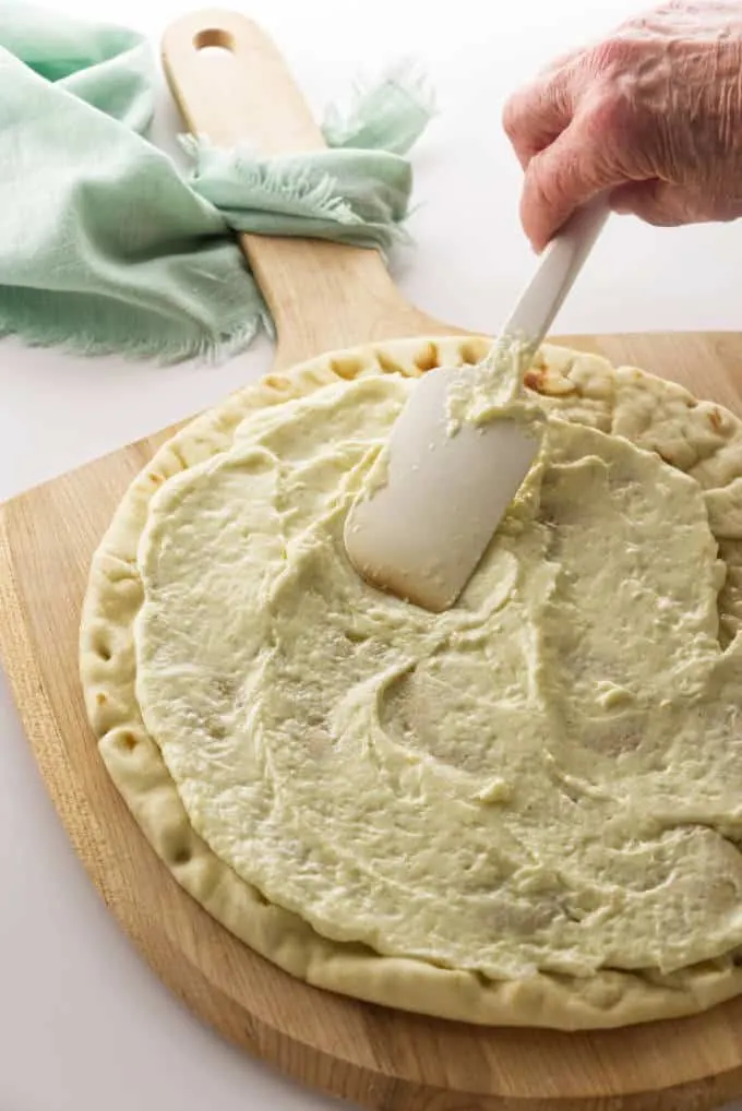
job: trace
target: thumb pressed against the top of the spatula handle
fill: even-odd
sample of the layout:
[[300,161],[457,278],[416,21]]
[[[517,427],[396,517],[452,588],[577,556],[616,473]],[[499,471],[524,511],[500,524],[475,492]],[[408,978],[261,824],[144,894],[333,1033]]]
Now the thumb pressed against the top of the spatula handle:
[[623,181],[625,172],[573,120],[525,170],[521,222],[534,250],[541,251],[576,208]]

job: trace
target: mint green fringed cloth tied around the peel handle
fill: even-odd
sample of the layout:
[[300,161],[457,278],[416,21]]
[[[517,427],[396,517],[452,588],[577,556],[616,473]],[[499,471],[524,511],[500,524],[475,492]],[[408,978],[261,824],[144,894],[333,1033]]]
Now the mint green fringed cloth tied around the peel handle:
[[398,68],[324,122],[330,149],[263,160],[147,138],[156,69],[124,28],[0,2],[0,336],[177,361],[244,348],[271,321],[232,229],[384,254],[404,236],[404,154],[432,106]]

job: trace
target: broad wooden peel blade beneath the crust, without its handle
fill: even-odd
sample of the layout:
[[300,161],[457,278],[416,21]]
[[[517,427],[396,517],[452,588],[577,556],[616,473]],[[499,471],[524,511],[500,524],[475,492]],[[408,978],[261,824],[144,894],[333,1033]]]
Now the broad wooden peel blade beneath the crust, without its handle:
[[[742,336],[569,338],[742,414]],[[703,1111],[742,1094],[742,998],[706,1014],[588,1034],[482,1030],[309,988],[232,938],[154,855],[108,778],[78,681],[90,557],[164,434],[0,508],[0,653],[64,827],[162,980],[227,1038],[385,1111]]]

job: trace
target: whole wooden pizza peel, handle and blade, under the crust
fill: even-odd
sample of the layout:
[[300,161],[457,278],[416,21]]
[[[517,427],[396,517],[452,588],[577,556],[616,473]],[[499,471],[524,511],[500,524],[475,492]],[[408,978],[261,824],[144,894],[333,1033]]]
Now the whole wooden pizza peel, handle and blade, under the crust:
[[[228,69],[215,58],[207,80],[192,70],[194,43],[249,51],[250,64],[233,64],[228,51]],[[194,130],[231,142],[245,128],[265,128],[265,146],[280,131],[272,149],[319,141],[274,48],[248,21],[188,17],[168,33],[166,54]],[[201,102],[204,86],[211,107],[201,113],[187,106]],[[258,111],[260,89],[270,94]],[[224,100],[239,112],[217,133]],[[407,304],[370,252],[251,237],[243,247],[279,326],[274,366],[370,339],[457,331]],[[742,336],[564,342],[672,378],[742,414]],[[293,980],[178,885],[108,778],[78,678],[90,558],[128,483],[173,431],[0,507],[0,653],[20,717],[80,858],[161,979],[251,1053],[307,1085],[384,1111],[706,1111],[742,1094],[742,998],[691,1019],[579,1034],[419,1018]]]

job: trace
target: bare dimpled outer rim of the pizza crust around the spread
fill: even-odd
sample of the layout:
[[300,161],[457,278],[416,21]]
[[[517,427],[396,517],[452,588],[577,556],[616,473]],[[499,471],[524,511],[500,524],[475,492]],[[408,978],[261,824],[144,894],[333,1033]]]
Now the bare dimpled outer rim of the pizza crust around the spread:
[[[575,1030],[618,1027],[704,1010],[742,991],[734,954],[672,975],[601,971],[576,979],[539,973],[521,981],[381,957],[321,937],[268,902],[192,829],[136,698],[133,623],[143,600],[138,543],[150,498],[179,471],[229,448],[251,411],[311,393],[338,378],[420,374],[438,364],[478,361],[489,341],[402,340],[310,360],[268,376],[197,418],[164,444],[134,480],[92,561],[80,632],[80,674],[103,761],[143,833],[178,882],[231,933],[273,963],[319,988],[480,1024]],[[560,416],[624,436],[686,471],[705,491],[728,573],[720,594],[722,643],[742,622],[742,422],[696,402],[681,387],[634,368],[544,346],[528,384]]]

